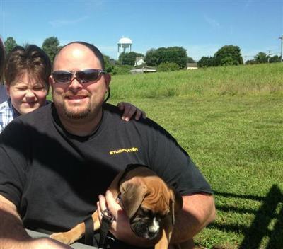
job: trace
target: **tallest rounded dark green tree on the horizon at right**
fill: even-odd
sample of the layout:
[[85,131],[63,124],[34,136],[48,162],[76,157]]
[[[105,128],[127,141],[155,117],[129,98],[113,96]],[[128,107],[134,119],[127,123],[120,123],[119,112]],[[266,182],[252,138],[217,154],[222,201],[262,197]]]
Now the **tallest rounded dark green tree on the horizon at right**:
[[240,47],[227,45],[221,47],[214,54],[214,65],[215,66],[226,66],[226,65],[240,65],[243,64],[243,57],[241,55]]

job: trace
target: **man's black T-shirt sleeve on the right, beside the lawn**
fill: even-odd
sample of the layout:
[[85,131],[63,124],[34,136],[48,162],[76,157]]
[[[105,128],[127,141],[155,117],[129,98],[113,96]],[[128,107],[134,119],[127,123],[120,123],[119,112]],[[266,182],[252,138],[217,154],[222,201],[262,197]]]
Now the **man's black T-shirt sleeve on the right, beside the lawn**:
[[151,168],[181,195],[212,194],[212,188],[187,152],[161,126],[153,122],[153,127],[148,134]]

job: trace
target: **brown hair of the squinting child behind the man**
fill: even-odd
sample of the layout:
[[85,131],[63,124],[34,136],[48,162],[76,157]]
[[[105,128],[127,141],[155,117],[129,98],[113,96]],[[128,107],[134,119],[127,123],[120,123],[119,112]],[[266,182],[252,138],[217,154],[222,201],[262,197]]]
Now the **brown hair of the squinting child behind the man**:
[[51,62],[40,47],[36,45],[16,46],[8,53],[4,66],[6,85],[11,86],[11,83],[25,71],[38,81],[42,81],[47,89],[49,88]]

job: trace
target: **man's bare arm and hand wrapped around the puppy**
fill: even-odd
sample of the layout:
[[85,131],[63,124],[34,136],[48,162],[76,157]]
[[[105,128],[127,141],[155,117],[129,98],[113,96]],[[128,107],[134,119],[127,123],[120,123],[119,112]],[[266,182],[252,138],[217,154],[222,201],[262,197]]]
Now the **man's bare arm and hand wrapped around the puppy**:
[[[111,192],[106,192],[106,196],[100,195],[98,203],[98,213],[108,207],[115,217],[115,221],[110,231],[116,238],[132,245],[149,246],[156,241],[149,241],[137,237],[129,227],[129,219]],[[175,226],[171,243],[181,243],[192,239],[195,234],[207,226],[215,219],[216,210],[214,198],[208,194],[195,194],[183,196],[183,209],[175,217]]]

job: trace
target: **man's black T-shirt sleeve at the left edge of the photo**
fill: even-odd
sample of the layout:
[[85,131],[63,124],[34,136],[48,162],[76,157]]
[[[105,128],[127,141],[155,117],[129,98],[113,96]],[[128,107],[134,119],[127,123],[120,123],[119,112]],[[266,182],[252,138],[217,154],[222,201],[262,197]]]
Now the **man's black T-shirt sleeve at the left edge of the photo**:
[[21,204],[25,185],[28,141],[21,122],[13,120],[0,134],[0,195],[16,207]]

